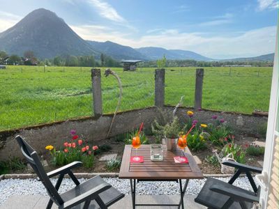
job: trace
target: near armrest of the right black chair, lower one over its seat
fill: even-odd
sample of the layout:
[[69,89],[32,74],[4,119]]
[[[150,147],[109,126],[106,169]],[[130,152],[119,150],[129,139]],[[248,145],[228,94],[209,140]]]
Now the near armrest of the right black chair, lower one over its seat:
[[213,192],[218,192],[220,194],[225,194],[230,196],[235,201],[248,201],[248,202],[259,202],[259,197],[242,192],[233,188],[225,188],[220,185],[212,185],[209,189]]

